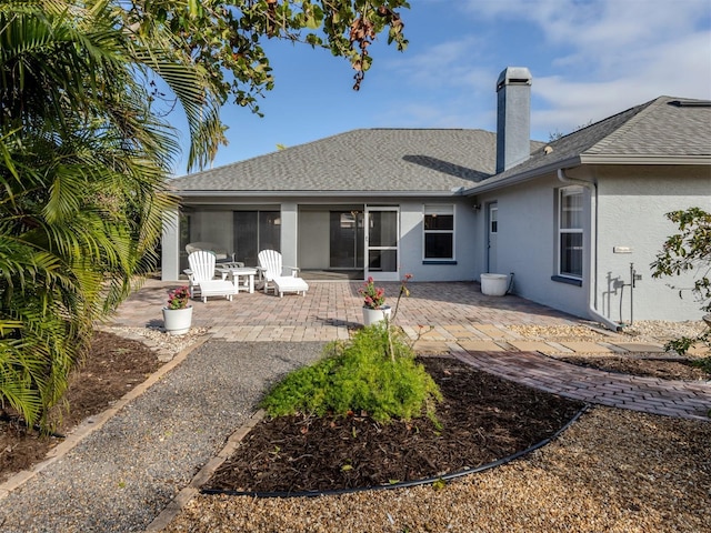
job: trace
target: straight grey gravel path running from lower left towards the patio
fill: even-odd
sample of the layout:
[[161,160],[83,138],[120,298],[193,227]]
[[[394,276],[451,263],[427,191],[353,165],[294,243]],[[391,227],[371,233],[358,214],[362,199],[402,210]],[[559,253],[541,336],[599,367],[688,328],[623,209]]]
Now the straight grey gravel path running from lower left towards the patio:
[[143,531],[253,414],[264,382],[312,361],[321,346],[207,342],[2,500],[0,530]]

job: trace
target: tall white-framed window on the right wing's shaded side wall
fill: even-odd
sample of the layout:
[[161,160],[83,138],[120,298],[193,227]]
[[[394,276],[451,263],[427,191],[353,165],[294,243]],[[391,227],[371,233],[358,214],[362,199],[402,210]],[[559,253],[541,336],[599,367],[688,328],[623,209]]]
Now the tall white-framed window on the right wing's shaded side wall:
[[558,273],[580,279],[583,259],[583,188],[560,189],[558,205]]

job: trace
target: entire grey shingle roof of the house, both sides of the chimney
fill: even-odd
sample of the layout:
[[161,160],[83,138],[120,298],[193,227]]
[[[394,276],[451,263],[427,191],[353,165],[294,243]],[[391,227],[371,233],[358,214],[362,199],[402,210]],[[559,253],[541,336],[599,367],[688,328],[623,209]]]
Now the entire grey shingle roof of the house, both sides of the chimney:
[[711,104],[660,97],[550,143],[493,175],[483,130],[360,129],[171,181],[181,194],[452,193],[510,184],[581,163],[711,162]]

